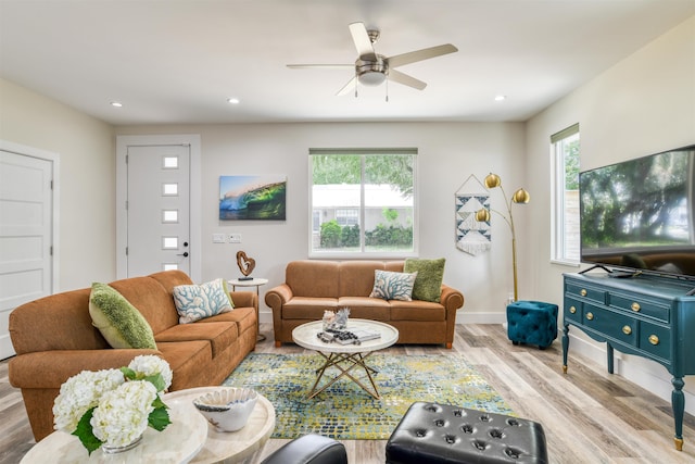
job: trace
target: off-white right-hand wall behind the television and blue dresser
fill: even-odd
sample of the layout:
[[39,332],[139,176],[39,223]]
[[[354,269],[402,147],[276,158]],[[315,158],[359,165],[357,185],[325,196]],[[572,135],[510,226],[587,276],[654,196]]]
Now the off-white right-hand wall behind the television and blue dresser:
[[[695,143],[695,16],[528,122],[527,178],[543,191],[529,205],[527,225],[535,239],[526,242],[521,262],[527,289],[545,301],[560,302],[561,273],[579,271],[549,263],[549,136],[574,123],[580,124],[582,170]],[[570,351],[605,365],[605,343],[580,336],[570,344]],[[620,358],[617,373],[670,401],[670,375],[664,367]],[[685,390],[686,411],[695,414],[695,377],[686,378]]]

